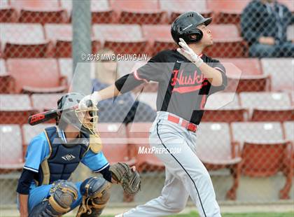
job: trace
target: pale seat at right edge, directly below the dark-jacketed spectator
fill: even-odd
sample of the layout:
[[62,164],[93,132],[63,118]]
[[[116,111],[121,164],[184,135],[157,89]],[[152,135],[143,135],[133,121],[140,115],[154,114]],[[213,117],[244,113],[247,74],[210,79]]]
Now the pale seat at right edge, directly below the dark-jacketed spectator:
[[272,90],[294,91],[294,59],[293,58],[262,58],[262,70],[271,76]]

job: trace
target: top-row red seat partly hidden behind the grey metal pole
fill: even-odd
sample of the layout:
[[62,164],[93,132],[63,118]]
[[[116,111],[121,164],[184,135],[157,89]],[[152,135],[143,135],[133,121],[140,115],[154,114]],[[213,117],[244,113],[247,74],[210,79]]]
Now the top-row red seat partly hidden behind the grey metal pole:
[[[63,8],[67,10],[69,15],[72,15],[72,1],[61,0],[60,1]],[[109,7],[109,1],[99,0],[91,1],[91,13],[92,13],[92,23],[111,23],[116,22],[116,14]]]

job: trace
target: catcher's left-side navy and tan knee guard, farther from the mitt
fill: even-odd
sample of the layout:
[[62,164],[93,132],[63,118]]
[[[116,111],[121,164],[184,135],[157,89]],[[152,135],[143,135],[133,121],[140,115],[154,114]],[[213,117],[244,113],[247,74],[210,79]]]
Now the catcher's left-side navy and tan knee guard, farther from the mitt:
[[55,181],[50,188],[50,197],[38,204],[29,216],[61,216],[71,209],[71,204],[78,198],[78,189],[70,181]]

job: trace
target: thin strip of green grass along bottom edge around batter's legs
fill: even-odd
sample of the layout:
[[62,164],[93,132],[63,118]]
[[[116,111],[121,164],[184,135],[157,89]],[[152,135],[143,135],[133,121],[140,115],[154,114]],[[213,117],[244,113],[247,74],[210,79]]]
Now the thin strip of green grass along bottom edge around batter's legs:
[[[174,217],[198,217],[196,212],[191,212],[190,214],[180,214],[174,215]],[[294,217],[294,213],[246,213],[246,214],[222,214],[222,217]],[[105,216],[113,217],[113,216]],[[172,216],[169,216],[172,217]]]

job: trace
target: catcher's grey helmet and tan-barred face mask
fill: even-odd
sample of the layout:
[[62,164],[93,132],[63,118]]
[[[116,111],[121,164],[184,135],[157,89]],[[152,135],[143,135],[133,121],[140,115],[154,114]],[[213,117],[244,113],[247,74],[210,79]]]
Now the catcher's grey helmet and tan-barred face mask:
[[[58,100],[57,108],[64,110],[74,106],[77,107],[83,97],[83,94],[77,92],[65,94]],[[62,130],[64,130],[67,125],[73,125],[80,132],[97,135],[97,111],[97,106],[92,104],[92,101],[89,101],[87,103],[87,109],[71,109],[69,111],[62,111],[61,116],[57,118],[56,124]]]

